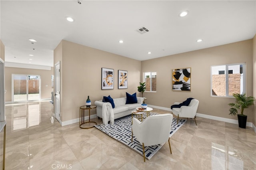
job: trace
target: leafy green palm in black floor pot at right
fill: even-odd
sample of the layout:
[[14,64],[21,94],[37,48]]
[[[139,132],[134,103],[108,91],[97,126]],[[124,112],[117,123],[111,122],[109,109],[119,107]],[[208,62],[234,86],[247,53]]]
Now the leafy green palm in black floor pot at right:
[[[246,128],[247,115],[244,115],[244,109],[254,105],[256,100],[253,96],[246,97],[246,93],[233,93],[233,96],[235,97],[236,102],[228,104],[231,106],[229,115],[237,115],[238,126],[240,128]],[[241,114],[238,114],[238,110],[240,110]]]

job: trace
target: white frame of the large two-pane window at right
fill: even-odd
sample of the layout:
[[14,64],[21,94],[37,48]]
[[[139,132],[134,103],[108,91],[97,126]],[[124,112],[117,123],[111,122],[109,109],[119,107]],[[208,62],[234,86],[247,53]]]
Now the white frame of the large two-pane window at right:
[[[212,97],[233,97],[228,95],[228,90],[229,90],[229,82],[228,82],[228,66],[232,65],[242,65],[243,66],[243,84],[242,84],[242,93],[246,93],[246,63],[234,63],[234,64],[222,64],[222,65],[212,65],[211,66],[211,88],[210,88],[210,94]],[[212,67],[216,66],[225,66],[225,77],[226,77],[226,95],[225,96],[216,96],[212,95]]]

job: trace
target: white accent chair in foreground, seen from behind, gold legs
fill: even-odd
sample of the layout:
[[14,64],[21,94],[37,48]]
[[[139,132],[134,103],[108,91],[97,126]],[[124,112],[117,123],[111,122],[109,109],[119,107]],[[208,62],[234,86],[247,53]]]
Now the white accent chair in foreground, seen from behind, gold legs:
[[137,140],[142,144],[143,156],[145,162],[145,146],[152,146],[169,142],[170,152],[172,153],[170,145],[170,128],[172,125],[172,114],[152,115],[140,122],[136,118],[133,119],[132,124],[132,138],[133,134]]

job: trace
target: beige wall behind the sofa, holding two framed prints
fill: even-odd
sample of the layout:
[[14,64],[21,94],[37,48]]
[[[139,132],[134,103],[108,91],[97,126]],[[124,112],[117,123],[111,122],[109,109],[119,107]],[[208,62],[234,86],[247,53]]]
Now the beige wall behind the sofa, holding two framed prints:
[[[79,118],[79,107],[85,105],[87,96],[92,104],[107,95],[116,98],[137,92],[141,96],[137,88],[141,61],[65,40],[54,50],[54,63],[57,61],[61,61],[61,121]],[[101,90],[102,67],[114,69],[114,89]],[[118,89],[118,69],[128,71],[128,89]]]

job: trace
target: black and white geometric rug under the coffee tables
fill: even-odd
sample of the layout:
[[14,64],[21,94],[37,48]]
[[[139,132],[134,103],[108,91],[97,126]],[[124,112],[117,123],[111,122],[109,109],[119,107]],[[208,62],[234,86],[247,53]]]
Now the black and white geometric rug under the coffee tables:
[[[157,113],[150,113],[150,115],[157,115]],[[143,115],[143,119],[146,118],[146,114]],[[114,125],[94,125],[96,128],[101,130],[102,132],[105,132],[112,138],[118,140],[122,144],[125,144],[126,146],[130,147],[132,150],[138,152],[143,156],[143,149],[142,145],[136,137],[133,137],[132,139],[132,116],[128,115],[125,117],[121,117],[118,119],[115,119]],[[172,127],[170,129],[170,137],[186,122],[186,119],[179,119],[177,124],[177,118],[172,119]],[[131,142],[132,139],[132,142]],[[158,144],[154,146],[146,146],[145,147],[145,157],[149,160],[152,158],[154,154],[160,148],[162,148],[163,144]]]

